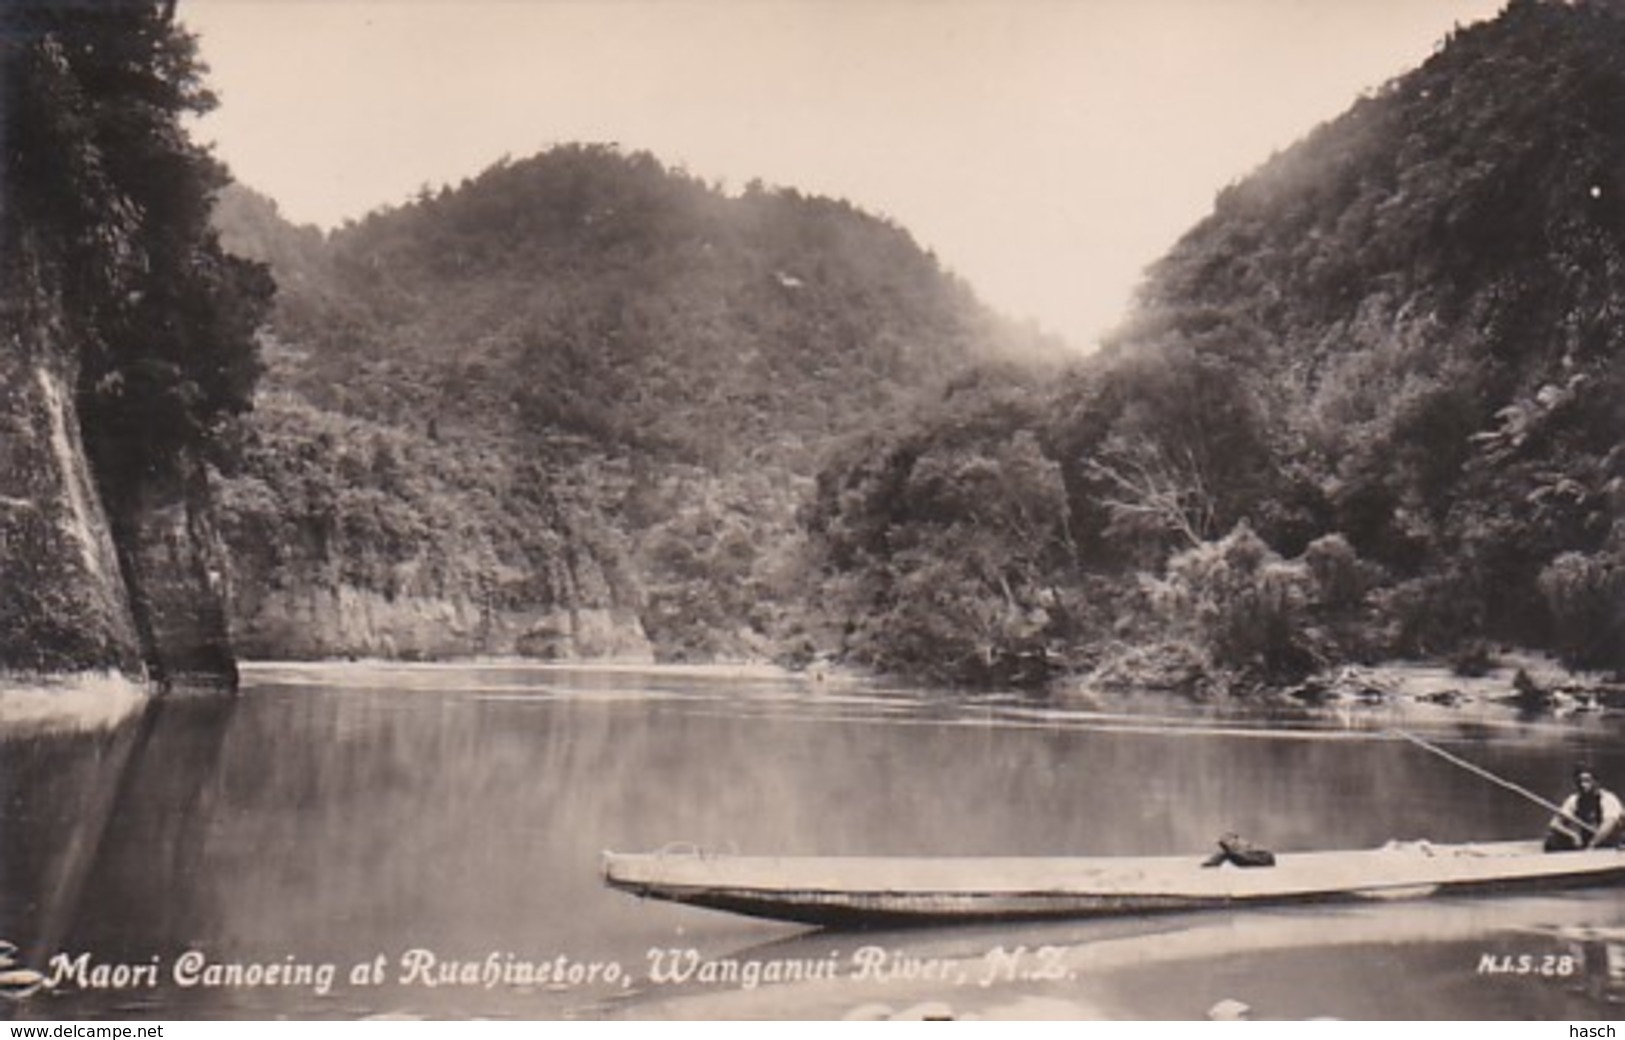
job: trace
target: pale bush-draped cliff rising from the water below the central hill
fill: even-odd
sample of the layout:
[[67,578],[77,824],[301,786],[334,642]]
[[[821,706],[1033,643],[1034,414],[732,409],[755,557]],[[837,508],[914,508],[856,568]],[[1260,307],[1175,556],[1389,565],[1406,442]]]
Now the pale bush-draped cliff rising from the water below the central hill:
[[281,393],[255,426],[219,499],[240,653],[650,656],[624,548],[546,474]]

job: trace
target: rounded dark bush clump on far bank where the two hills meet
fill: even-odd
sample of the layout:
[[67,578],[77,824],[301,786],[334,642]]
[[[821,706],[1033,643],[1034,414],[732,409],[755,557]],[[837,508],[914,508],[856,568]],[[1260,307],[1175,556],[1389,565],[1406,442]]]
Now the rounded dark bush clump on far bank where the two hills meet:
[[1050,678],[1076,639],[1060,465],[1025,395],[968,382],[900,439],[826,471],[808,522],[840,650],[951,684]]

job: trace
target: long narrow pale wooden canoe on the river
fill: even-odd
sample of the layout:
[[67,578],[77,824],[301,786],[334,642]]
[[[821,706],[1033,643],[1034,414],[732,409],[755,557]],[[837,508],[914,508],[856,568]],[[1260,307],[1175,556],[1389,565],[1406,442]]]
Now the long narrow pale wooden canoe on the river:
[[835,928],[1081,918],[1315,900],[1609,884],[1625,852],[1542,853],[1537,842],[1389,843],[1280,853],[1276,866],[1201,856],[861,858],[613,853],[609,887],[713,910]]

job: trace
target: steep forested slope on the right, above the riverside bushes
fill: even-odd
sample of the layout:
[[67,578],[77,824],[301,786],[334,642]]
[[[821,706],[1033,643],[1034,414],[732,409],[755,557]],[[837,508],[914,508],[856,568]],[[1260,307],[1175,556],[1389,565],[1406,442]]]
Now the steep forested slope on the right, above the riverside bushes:
[[1245,382],[1280,549],[1346,535],[1424,645],[1566,645],[1625,608],[1622,318],[1625,5],[1519,0],[1224,192],[1126,340]]

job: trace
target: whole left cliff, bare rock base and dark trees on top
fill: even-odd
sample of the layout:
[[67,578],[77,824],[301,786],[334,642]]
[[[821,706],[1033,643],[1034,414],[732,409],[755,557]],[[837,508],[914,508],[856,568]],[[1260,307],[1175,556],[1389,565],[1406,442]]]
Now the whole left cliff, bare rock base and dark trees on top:
[[0,5],[5,671],[236,682],[202,473],[271,286],[210,229],[200,73],[174,3]]

